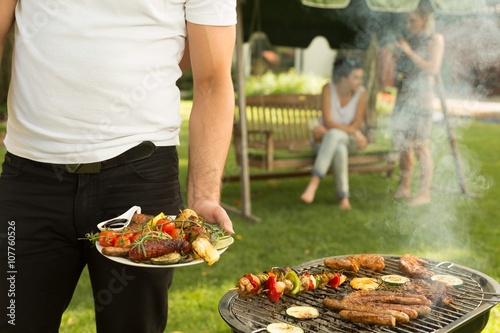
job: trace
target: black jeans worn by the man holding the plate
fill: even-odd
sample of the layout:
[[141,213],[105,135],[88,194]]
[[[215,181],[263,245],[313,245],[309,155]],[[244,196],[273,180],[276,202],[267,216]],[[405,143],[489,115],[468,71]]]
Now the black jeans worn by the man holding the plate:
[[85,265],[97,332],[163,332],[173,270],[116,263],[81,238],[134,205],[145,214],[178,214],[176,148],[97,174],[7,156],[0,177],[0,332],[58,332]]

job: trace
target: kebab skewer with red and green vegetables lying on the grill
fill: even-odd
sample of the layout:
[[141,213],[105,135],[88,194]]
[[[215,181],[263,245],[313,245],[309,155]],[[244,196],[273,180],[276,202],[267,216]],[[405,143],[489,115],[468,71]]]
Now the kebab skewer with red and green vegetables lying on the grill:
[[290,267],[274,267],[260,274],[245,274],[236,285],[238,294],[246,299],[248,296],[257,296],[267,293],[271,302],[278,302],[282,295],[296,295],[325,286],[337,289],[347,277],[338,272],[324,271],[311,274],[298,273]]

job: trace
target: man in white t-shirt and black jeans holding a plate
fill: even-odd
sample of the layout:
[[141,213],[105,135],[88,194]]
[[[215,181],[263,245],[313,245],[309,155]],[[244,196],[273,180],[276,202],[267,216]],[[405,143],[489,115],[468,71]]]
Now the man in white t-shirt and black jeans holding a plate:
[[184,207],[176,81],[186,43],[194,84],[187,206],[233,233],[219,200],[234,112],[235,7],[0,1],[0,57],[15,31],[0,177],[1,332],[58,331],[85,266],[97,332],[165,330],[173,270],[118,264],[79,239],[134,205],[151,215]]

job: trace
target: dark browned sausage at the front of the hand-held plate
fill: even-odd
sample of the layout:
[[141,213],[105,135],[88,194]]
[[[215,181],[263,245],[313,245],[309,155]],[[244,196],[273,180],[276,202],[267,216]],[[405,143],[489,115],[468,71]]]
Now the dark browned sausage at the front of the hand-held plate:
[[145,261],[164,254],[179,252],[187,254],[191,251],[191,243],[183,239],[147,240],[130,249],[129,258],[133,261]]

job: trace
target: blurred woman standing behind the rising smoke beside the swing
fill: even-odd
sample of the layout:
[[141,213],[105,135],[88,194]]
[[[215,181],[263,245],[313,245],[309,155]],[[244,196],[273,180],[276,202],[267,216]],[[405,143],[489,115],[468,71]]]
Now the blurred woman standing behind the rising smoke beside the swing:
[[397,42],[398,96],[392,117],[394,144],[400,152],[400,184],[395,198],[411,198],[415,153],[420,164],[420,188],[411,206],[429,203],[433,160],[429,145],[434,77],[441,69],[444,39],[434,32],[432,9],[419,6],[406,19],[408,37]]

